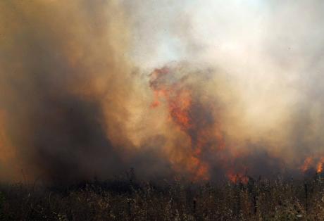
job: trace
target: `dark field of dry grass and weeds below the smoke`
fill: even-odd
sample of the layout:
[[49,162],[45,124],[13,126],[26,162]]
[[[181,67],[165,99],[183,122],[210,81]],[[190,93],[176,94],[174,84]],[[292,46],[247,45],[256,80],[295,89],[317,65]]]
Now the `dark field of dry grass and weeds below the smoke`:
[[139,182],[1,187],[1,220],[323,220],[324,179],[243,183]]

